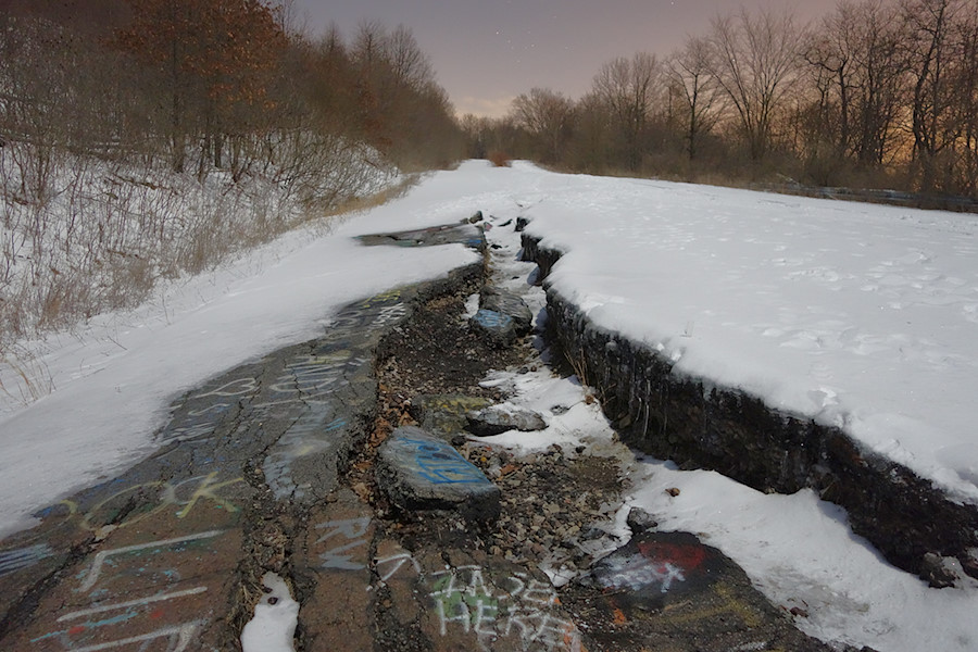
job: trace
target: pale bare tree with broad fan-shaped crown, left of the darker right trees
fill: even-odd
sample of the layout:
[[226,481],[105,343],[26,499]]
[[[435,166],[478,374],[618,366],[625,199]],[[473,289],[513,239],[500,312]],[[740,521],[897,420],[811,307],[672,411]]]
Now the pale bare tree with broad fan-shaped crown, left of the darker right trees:
[[754,160],[770,149],[775,118],[798,83],[803,32],[791,14],[769,10],[742,9],[713,20],[712,73],[737,112]]

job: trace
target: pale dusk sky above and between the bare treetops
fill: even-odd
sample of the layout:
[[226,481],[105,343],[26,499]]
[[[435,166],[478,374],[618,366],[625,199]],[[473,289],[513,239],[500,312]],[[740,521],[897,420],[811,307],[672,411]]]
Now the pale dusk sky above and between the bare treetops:
[[[743,0],[788,8],[802,20],[836,0]],[[336,23],[350,38],[363,21],[411,28],[431,58],[459,113],[501,115],[535,86],[574,99],[606,61],[647,51],[668,54],[687,35],[705,34],[716,0],[294,0],[301,23],[321,33]]]

